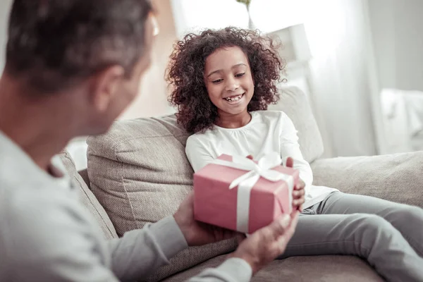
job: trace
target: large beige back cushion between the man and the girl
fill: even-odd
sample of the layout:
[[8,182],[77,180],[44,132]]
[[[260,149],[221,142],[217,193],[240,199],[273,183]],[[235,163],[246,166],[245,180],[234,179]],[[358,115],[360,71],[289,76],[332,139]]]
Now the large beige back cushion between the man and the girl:
[[91,189],[119,236],[173,214],[192,189],[187,136],[168,116],[117,121],[88,138]]

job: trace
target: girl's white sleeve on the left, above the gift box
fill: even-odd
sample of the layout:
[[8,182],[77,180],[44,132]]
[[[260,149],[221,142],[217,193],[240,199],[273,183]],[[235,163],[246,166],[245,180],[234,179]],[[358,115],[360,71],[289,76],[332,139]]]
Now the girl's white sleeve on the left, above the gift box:
[[214,157],[207,148],[207,144],[204,144],[197,135],[188,137],[187,145],[185,146],[185,154],[195,172],[214,160]]

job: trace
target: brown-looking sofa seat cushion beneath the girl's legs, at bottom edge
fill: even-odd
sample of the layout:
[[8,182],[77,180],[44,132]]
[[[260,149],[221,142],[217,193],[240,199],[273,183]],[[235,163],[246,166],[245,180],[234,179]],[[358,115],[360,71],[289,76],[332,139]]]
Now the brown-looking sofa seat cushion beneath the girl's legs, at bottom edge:
[[[209,267],[219,266],[225,256],[210,259],[188,271],[176,274],[164,282],[186,281]],[[358,257],[314,256],[290,257],[271,262],[252,278],[252,282],[383,282],[374,269]]]

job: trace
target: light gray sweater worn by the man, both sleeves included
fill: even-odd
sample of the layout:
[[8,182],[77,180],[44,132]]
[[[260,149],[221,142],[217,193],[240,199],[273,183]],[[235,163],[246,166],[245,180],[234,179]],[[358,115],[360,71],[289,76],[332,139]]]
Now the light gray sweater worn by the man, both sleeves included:
[[[135,281],[187,246],[173,216],[106,241],[59,158],[64,176],[39,168],[0,131],[0,281]],[[190,281],[250,281],[228,259]]]

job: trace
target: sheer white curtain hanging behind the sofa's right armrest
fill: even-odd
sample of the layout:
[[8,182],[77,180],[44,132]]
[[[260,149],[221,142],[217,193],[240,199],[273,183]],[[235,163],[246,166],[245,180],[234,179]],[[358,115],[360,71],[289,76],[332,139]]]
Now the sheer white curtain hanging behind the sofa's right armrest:
[[325,157],[376,154],[367,0],[307,1],[311,99]]

